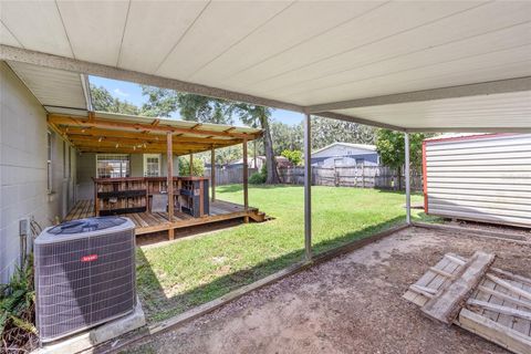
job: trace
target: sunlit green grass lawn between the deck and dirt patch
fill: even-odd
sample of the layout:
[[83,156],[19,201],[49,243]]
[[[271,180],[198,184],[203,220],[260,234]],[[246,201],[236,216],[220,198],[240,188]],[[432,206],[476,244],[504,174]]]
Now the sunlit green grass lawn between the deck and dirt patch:
[[[217,188],[219,199],[240,202],[241,186]],[[323,252],[404,222],[404,194],[312,187],[313,250]],[[413,202],[421,196],[412,197]],[[249,202],[274,220],[138,249],[137,289],[149,321],[216,299],[302,260],[303,188],[250,187]],[[424,217],[414,210],[414,217]]]

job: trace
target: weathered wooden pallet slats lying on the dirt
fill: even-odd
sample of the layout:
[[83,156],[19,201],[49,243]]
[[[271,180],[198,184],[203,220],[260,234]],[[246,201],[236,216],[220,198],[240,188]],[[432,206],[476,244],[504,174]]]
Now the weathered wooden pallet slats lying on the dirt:
[[[404,298],[425,310],[429,302],[442,298],[461,280],[470,261],[445,254],[409,287]],[[514,353],[531,353],[531,279],[489,266],[457,302],[454,324]]]

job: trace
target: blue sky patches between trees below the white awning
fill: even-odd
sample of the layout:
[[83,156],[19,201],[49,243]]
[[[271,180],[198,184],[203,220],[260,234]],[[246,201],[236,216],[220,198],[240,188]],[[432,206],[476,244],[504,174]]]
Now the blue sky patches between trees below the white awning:
[[[100,76],[88,76],[88,80],[92,85],[104,86],[114,97],[133,103],[138,107],[146,101],[142,95],[142,88],[138,84]],[[179,113],[175,112],[171,114],[171,117],[179,118]],[[273,110],[271,118],[288,125],[296,125],[302,122],[303,115],[284,110]],[[243,125],[238,118],[235,118],[235,123],[237,125]]]

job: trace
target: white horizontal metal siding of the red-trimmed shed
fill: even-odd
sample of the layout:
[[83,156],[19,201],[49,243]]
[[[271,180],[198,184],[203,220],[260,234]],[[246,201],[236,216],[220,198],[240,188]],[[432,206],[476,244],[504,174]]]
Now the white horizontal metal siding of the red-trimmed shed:
[[531,134],[426,143],[428,212],[531,227]]

